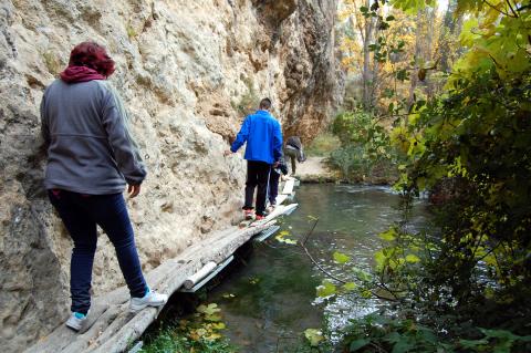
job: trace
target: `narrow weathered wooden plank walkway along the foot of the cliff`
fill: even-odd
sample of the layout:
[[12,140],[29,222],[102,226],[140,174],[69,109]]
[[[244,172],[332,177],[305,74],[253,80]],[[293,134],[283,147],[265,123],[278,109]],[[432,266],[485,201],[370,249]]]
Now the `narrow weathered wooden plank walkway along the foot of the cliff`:
[[[288,183],[287,183],[288,184]],[[293,188],[293,183],[291,188]],[[288,190],[284,186],[284,190]],[[291,193],[293,189],[291,189]],[[291,194],[290,193],[290,194]],[[185,280],[207,262],[222,262],[253,236],[274,226],[274,218],[293,210],[296,205],[279,205],[274,214],[250,227],[230,227],[187,248],[177,258],[146,274],[149,285],[162,293],[175,293]],[[114,353],[124,352],[156,320],[162,308],[128,312],[129,292],[121,287],[93,299],[87,329],[75,333],[63,322],[48,336],[29,347],[27,353]]]

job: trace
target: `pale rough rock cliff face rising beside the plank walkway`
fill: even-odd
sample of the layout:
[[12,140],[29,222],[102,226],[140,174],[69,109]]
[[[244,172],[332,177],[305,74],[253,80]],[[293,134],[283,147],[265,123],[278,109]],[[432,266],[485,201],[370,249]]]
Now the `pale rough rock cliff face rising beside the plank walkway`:
[[[3,0],[0,3],[0,345],[15,352],[69,313],[71,240],[42,188],[39,104],[79,42],[104,44],[148,167],[128,200],[145,271],[235,221],[244,163],[222,156],[244,112],[274,102],[314,136],[341,96],[335,0]],[[105,236],[97,295],[123,284]]]

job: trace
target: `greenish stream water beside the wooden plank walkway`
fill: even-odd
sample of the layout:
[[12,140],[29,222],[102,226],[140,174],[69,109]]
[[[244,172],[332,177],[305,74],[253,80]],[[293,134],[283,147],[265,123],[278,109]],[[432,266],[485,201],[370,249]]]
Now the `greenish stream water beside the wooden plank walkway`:
[[[377,237],[400,219],[399,196],[383,187],[302,185],[296,190],[298,210],[285,217],[282,229],[302,238],[311,228],[309,216],[317,217],[308,248],[326,270],[345,278],[333,264],[332,253],[341,251],[360,268],[369,268]],[[423,203],[416,203],[409,227],[426,222]],[[316,300],[315,287],[324,274],[294,246],[271,237],[257,245],[246,263],[238,267],[208,294],[222,310],[228,329],[225,334],[240,352],[289,352],[309,328],[324,323],[337,332],[348,318],[376,310],[376,300],[343,295],[334,301]],[[232,294],[232,295],[227,295]]]

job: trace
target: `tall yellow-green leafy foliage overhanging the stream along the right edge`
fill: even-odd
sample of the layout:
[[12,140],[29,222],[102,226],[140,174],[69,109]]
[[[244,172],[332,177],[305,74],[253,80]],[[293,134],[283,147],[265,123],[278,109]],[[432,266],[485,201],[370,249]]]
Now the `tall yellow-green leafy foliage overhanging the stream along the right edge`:
[[[530,9],[529,1],[459,0],[468,51],[445,94],[417,101],[392,133],[408,156],[397,186],[430,193],[441,235],[435,250],[409,253],[407,245],[391,245],[395,250],[377,255],[381,268],[391,269],[391,281],[404,271],[417,278],[416,293],[435,301],[433,310],[457,308],[467,312],[460,320],[492,326],[501,319],[489,313],[529,314]],[[409,271],[418,262],[424,274]]]

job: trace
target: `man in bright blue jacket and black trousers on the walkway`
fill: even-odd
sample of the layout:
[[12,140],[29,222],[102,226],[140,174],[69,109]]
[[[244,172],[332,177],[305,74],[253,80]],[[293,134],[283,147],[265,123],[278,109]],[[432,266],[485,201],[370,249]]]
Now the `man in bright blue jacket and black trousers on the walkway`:
[[257,186],[256,219],[263,219],[269,173],[271,166],[277,165],[282,156],[282,132],[279,122],[269,113],[270,110],[271,100],[261,100],[257,113],[246,117],[230,150],[226,150],[226,155],[236,153],[247,143],[246,204],[243,205],[247,219],[252,218],[252,199]]

